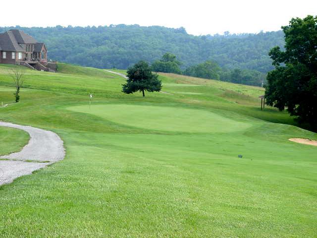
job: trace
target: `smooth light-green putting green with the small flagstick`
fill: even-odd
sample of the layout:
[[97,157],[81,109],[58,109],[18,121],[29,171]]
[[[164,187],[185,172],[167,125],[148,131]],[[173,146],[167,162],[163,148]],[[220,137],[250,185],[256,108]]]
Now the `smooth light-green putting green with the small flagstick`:
[[74,112],[98,117],[139,128],[180,132],[230,132],[251,126],[246,122],[228,119],[204,110],[176,107],[140,106],[128,104],[103,104],[73,106]]

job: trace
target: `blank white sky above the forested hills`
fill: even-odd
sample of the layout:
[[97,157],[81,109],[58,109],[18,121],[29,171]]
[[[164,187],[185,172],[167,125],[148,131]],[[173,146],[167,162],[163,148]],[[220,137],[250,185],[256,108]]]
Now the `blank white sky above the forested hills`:
[[[317,0],[1,0],[0,26],[185,27],[206,35],[276,31],[292,17],[317,15]],[[9,10],[6,10],[9,9]],[[10,10],[11,9],[11,10]]]

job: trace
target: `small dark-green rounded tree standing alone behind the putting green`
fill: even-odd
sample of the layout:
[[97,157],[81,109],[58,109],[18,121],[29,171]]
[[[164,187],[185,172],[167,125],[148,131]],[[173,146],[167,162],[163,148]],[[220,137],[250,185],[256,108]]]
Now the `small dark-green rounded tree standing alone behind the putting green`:
[[162,88],[161,81],[157,74],[153,74],[149,64],[145,61],[139,61],[127,71],[127,83],[122,85],[122,92],[126,94],[137,91],[159,92]]

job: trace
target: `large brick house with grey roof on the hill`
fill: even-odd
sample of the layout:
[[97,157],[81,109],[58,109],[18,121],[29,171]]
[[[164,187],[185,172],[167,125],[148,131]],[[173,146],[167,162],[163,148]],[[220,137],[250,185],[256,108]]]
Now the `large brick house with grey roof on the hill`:
[[32,36],[20,30],[0,33],[0,63],[21,64],[38,70],[47,67],[47,48]]

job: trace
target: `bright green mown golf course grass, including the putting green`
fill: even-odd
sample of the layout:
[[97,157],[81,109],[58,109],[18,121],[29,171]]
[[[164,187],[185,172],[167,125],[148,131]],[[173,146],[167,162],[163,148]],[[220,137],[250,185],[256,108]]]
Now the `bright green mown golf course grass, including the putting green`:
[[0,237],[317,236],[317,147],[288,141],[317,134],[261,111],[263,89],[160,74],[163,92],[143,98],[59,64],[28,70],[15,104],[10,67],[0,120],[58,133],[66,157],[0,186]]

